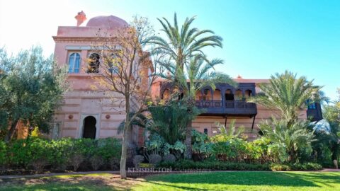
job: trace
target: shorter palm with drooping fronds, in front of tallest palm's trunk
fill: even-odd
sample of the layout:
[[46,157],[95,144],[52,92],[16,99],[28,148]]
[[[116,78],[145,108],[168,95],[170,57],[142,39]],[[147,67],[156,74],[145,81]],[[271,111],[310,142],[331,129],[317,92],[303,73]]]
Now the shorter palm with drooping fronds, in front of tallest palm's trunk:
[[[209,62],[204,55],[196,54],[194,57],[191,57],[191,61],[185,65],[186,68],[183,70],[178,69],[180,66],[176,64],[168,63],[165,65],[170,73],[170,79],[174,81],[174,79],[177,78],[179,90],[183,92],[183,99],[187,102],[188,111],[193,111],[196,108],[196,92],[200,91],[202,88],[210,86],[215,90],[216,83],[229,83],[232,86],[237,85],[237,83],[235,83],[227,74],[215,71],[214,66],[218,64],[223,64],[223,61],[221,59],[212,59],[212,61]],[[169,79],[169,76],[167,77]],[[191,115],[186,128],[186,158],[191,158],[192,153],[191,121],[194,117],[196,117],[196,115]]]

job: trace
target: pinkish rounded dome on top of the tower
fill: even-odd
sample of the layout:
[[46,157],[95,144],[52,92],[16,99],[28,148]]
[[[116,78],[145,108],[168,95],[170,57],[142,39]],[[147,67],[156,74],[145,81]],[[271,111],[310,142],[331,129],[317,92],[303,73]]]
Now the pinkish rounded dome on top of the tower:
[[126,21],[116,16],[96,16],[86,24],[88,27],[100,28],[123,28],[127,25]]

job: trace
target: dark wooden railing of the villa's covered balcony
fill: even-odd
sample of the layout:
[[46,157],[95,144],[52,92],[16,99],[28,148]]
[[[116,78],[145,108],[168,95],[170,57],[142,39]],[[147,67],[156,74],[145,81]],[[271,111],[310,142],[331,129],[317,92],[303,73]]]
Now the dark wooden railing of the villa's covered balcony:
[[196,107],[205,110],[203,115],[256,115],[255,103],[244,100],[196,100]]

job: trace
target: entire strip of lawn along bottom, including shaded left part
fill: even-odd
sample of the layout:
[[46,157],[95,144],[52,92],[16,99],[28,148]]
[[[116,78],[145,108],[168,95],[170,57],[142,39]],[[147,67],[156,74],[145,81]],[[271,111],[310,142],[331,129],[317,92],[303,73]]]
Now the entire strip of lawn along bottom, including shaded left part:
[[66,175],[0,181],[0,190],[340,190],[340,172],[221,172],[152,175]]

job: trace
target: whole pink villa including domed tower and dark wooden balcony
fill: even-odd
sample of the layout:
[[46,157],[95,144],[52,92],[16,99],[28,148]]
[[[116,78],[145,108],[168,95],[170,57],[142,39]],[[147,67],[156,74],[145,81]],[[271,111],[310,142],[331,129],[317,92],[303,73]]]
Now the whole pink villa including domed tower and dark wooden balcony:
[[[111,103],[105,93],[91,90],[91,84],[95,82],[91,79],[92,74],[88,74],[84,68],[88,64],[86,63],[88,58],[94,60],[94,63],[91,63],[94,66],[101,64],[99,54],[91,48],[98,28],[105,28],[114,33],[128,23],[116,16],[98,16],[81,26],[86,20],[82,11],[76,19],[77,26],[60,26],[57,35],[53,36],[55,58],[61,66],[66,64],[69,67],[68,80],[72,91],[65,93],[64,103],[55,113],[50,137],[121,138],[122,134],[118,134],[118,125],[125,119],[123,108]],[[229,122],[235,119],[236,127],[244,126],[249,139],[256,138],[257,124],[261,120],[269,119],[275,112],[261,105],[246,103],[246,98],[259,93],[259,83],[268,83],[268,80],[242,79],[241,76],[234,80],[239,83],[237,88],[227,83],[217,84],[215,91],[207,87],[196,94],[196,106],[205,108],[205,113],[193,121],[193,128],[212,136],[218,133],[215,122],[229,125]],[[162,99],[169,96],[169,91],[171,87],[166,81],[158,81],[152,88],[152,94]],[[307,116],[313,117],[313,120],[322,119],[319,104],[310,105],[307,110],[300,111],[300,118],[306,119]],[[142,144],[141,132],[141,128],[135,128],[132,134],[135,144]]]

